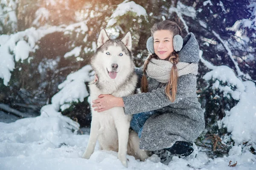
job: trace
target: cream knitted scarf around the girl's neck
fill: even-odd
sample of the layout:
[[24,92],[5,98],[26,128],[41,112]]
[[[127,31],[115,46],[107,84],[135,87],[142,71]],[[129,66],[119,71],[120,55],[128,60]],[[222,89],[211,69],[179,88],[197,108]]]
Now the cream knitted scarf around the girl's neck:
[[[157,60],[152,58],[146,69],[146,73],[150,78],[154,78],[160,83],[167,83],[170,78],[170,72],[173,64],[170,61]],[[197,63],[183,63],[179,62],[176,64],[178,69],[178,76],[187,74],[198,74],[198,64]]]

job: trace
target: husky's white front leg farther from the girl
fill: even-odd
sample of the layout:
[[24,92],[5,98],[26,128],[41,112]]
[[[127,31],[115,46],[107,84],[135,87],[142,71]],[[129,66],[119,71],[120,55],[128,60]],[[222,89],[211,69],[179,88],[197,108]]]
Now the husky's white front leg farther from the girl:
[[99,121],[92,118],[91,128],[90,128],[90,137],[89,137],[89,141],[87,144],[87,148],[86,148],[82,158],[89,159],[90,156],[93,154],[98,135],[99,135]]

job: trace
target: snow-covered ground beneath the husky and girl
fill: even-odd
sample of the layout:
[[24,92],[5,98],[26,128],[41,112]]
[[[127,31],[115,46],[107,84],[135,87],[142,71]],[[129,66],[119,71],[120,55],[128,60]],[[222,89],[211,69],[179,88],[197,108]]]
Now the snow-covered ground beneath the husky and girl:
[[[81,156],[89,135],[77,135],[78,130],[79,124],[58,113],[0,122],[0,170],[256,170],[256,156],[249,151],[242,153],[239,146],[233,147],[228,157],[211,159],[201,150],[191,161],[174,157],[168,165],[127,156],[125,168],[116,152],[99,150],[96,145],[87,160]],[[236,166],[229,167],[230,161],[237,161]]]

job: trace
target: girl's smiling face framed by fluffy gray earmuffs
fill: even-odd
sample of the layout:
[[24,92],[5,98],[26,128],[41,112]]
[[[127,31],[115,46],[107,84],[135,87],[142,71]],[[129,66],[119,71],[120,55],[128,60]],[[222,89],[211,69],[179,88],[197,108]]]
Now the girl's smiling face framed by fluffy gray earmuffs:
[[173,34],[169,30],[154,32],[154,52],[162,60],[168,58],[173,49]]

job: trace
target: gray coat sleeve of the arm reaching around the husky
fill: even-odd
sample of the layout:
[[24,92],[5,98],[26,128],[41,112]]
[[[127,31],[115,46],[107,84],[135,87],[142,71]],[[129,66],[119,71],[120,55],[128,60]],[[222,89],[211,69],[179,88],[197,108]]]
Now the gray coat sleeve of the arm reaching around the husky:
[[176,104],[185,98],[196,96],[195,75],[183,75],[178,78],[177,94],[174,102],[171,102],[165,94],[165,86],[151,92],[139,93],[122,97],[124,101],[125,115],[157,110],[168,105]]

